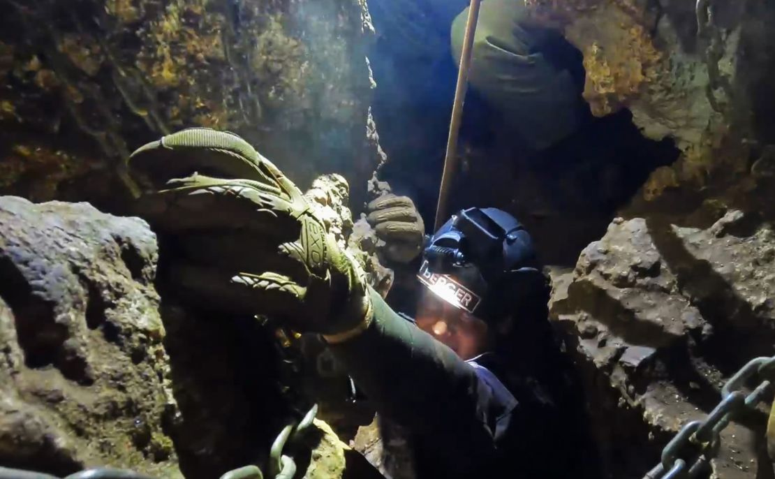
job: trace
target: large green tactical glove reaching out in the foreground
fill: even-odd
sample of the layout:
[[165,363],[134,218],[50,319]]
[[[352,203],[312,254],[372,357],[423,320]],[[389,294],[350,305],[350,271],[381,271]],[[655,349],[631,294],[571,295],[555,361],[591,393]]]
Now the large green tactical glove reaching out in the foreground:
[[171,281],[195,300],[331,341],[368,326],[363,271],[239,136],[184,129],[136,150],[129,170],[147,190],[137,213],[174,244]]

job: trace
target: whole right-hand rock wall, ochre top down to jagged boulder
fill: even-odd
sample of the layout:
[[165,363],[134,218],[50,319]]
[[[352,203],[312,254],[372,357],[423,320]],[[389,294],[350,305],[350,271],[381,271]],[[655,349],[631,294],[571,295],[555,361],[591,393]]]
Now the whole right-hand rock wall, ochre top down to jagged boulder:
[[[644,135],[680,150],[572,271],[553,272],[551,319],[585,377],[606,474],[642,477],[681,426],[715,407],[739,367],[775,353],[773,88],[762,80],[775,71],[762,26],[775,9],[532,3],[566,19],[595,115],[629,109]],[[713,477],[773,477],[765,427],[765,408],[736,417]]]

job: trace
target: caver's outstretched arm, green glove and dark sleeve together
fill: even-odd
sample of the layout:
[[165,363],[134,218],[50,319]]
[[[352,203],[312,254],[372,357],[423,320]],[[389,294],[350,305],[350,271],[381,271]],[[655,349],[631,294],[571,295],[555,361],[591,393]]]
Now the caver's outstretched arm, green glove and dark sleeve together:
[[174,284],[221,311],[322,333],[379,412],[457,459],[455,477],[488,472],[487,384],[367,287],[301,191],[252,146],[188,129],[143,146],[129,168],[138,183],[146,179],[138,212],[171,243]]

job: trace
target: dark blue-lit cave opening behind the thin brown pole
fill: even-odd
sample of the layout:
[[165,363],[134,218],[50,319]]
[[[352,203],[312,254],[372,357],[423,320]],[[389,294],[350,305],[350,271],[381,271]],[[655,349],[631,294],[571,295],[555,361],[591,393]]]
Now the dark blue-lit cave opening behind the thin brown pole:
[[[429,0],[411,8],[403,3],[370,2],[377,29],[370,52],[377,81],[373,110],[389,157],[381,179],[415,200],[432,233],[456,81],[449,22],[467,2],[443,9]],[[396,17],[396,10],[404,16]],[[547,51],[573,75],[580,98],[580,52],[564,40]],[[470,206],[505,209],[525,223],[546,264],[573,266],[649,173],[679,154],[670,140],[642,136],[626,110],[605,118],[584,110],[576,133],[534,153],[505,126],[501,112],[469,88],[448,213]]]

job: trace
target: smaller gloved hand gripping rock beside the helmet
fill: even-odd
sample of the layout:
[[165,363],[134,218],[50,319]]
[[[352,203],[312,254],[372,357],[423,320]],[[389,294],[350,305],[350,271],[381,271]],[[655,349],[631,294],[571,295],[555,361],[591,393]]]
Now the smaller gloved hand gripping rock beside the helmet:
[[425,225],[412,199],[383,195],[367,205],[369,224],[385,242],[382,254],[388,260],[409,263],[422,251]]

